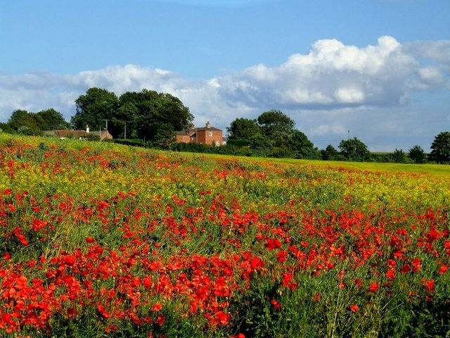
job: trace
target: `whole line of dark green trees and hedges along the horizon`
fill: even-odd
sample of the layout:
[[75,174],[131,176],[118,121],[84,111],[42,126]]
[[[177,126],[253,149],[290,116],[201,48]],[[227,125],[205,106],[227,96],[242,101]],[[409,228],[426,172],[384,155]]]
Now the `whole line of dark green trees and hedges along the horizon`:
[[244,156],[307,158],[326,161],[379,161],[393,163],[450,163],[450,132],[441,132],[432,142],[430,154],[416,145],[404,153],[373,154],[364,142],[354,137],[343,139],[338,149],[331,144],[318,149],[307,135],[295,129],[295,121],[282,111],[265,111],[256,119],[236,118],[226,128],[226,146],[176,144],[175,131],[184,130],[193,122],[193,115],[176,96],[142,89],[114,92],[97,87],[75,100],[75,115],[68,123],[61,113],[49,108],[37,113],[13,111],[0,131],[41,135],[46,130],[107,129],[115,142],[141,146],[158,146],[179,151],[203,151]]

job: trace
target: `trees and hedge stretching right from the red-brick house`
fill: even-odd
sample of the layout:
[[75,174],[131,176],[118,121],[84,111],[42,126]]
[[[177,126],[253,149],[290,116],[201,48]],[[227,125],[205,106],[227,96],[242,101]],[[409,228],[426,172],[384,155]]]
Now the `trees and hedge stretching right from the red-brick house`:
[[441,132],[431,145],[431,153],[415,145],[406,154],[395,149],[390,154],[373,154],[366,144],[354,137],[342,139],[338,149],[328,144],[317,149],[307,136],[296,130],[295,122],[278,110],[266,111],[255,120],[237,118],[227,128],[229,144],[248,146],[252,153],[266,157],[321,159],[325,161],[450,163],[450,132]]

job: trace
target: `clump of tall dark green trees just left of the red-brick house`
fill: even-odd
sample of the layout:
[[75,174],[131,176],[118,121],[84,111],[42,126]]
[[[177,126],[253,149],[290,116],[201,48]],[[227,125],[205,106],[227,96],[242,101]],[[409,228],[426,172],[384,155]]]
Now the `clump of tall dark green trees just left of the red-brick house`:
[[[89,125],[91,130],[104,130],[108,123],[108,131],[115,139],[137,138],[159,144],[162,138],[185,129],[193,120],[189,108],[178,98],[148,89],[126,92],[117,99],[113,92],[90,88],[75,104],[77,113],[71,120],[74,129]],[[169,137],[169,143],[172,141]]]

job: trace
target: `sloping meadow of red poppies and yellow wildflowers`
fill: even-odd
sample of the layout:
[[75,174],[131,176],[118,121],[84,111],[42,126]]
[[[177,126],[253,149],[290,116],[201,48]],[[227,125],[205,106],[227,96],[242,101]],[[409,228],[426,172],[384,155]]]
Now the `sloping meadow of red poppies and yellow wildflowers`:
[[0,337],[450,337],[449,178],[0,134]]

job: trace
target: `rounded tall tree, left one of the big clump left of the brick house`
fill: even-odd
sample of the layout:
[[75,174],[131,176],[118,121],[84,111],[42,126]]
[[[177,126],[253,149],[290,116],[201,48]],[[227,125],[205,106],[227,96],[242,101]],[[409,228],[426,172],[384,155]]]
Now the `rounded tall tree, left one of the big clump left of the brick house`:
[[[89,88],[85,95],[75,100],[76,113],[70,119],[74,129],[84,130],[89,125],[91,130],[105,130],[112,120],[118,106],[117,96],[106,89]],[[109,129],[109,127],[108,127]]]

